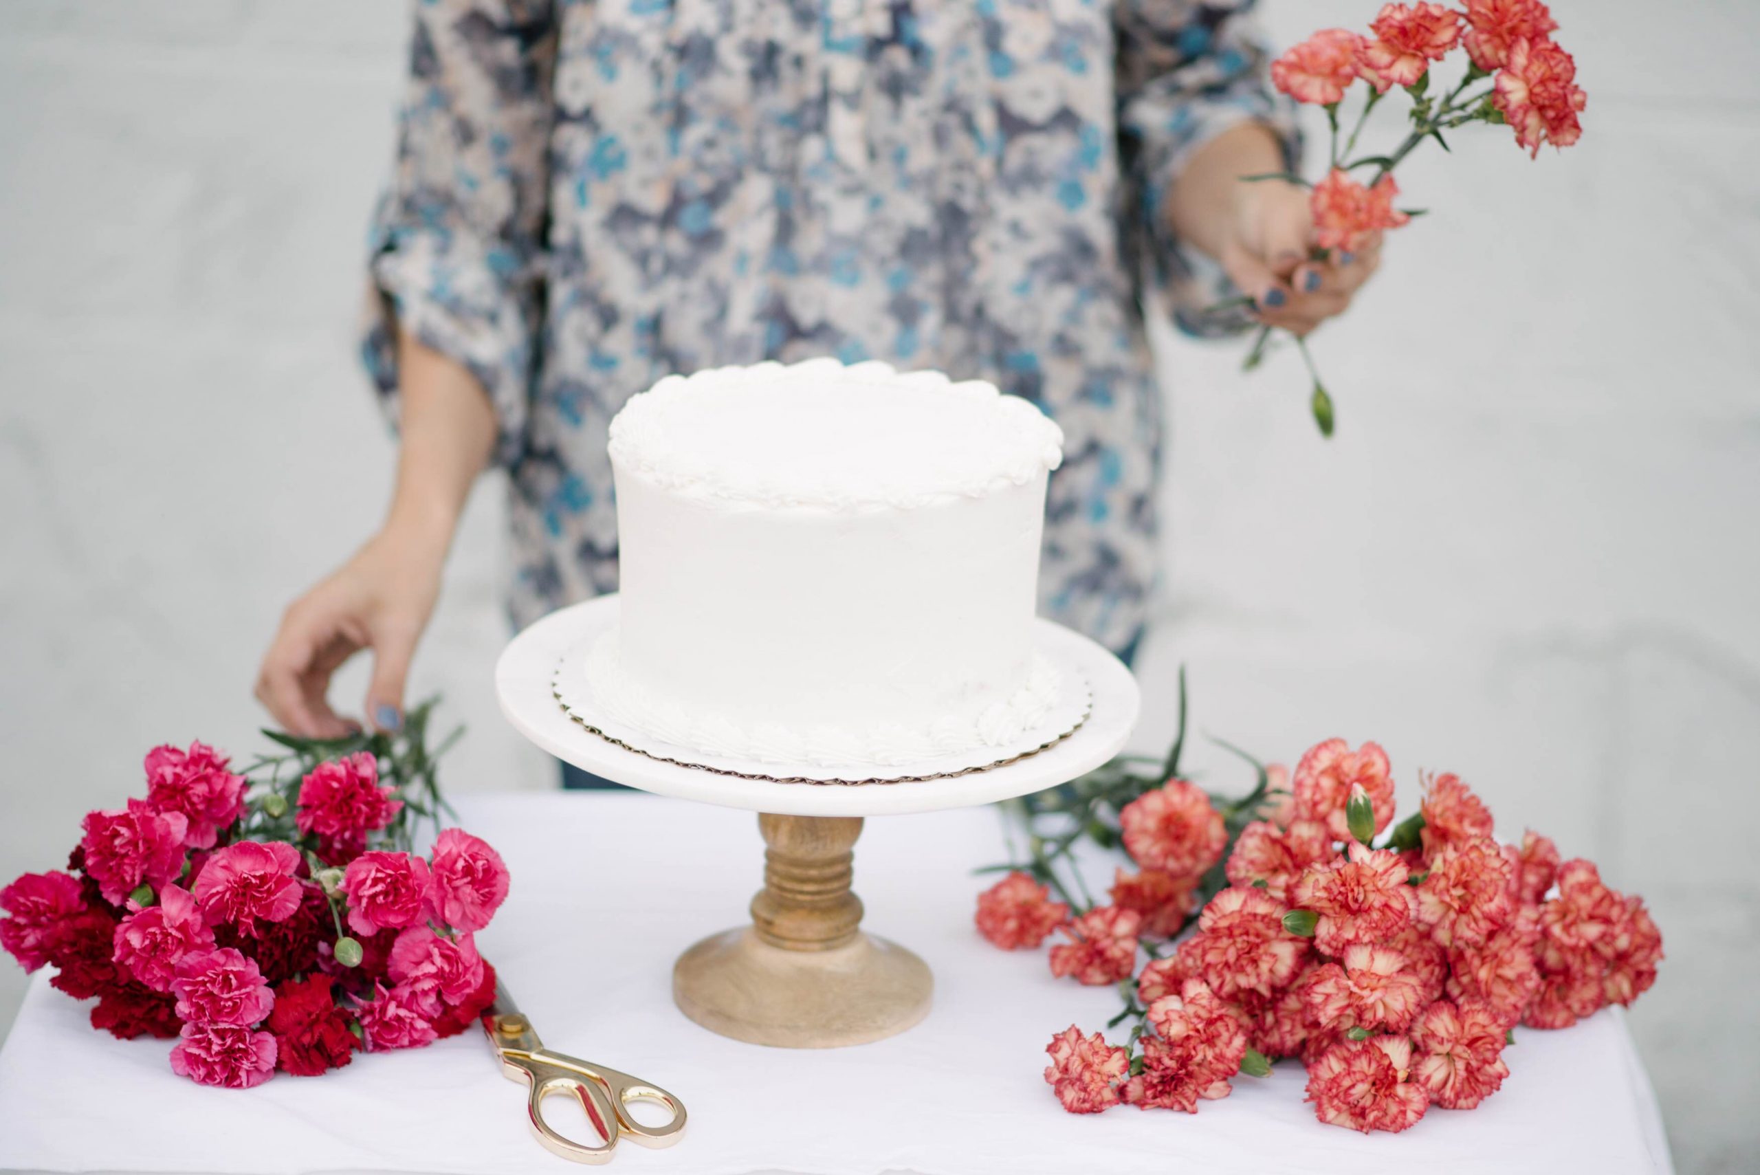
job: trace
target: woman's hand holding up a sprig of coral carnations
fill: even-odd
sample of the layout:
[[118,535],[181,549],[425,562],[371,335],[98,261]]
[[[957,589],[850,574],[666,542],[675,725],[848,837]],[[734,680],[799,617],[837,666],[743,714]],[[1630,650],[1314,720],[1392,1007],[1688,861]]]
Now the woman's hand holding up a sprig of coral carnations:
[[1313,216],[1302,188],[1281,179],[1241,181],[1216,260],[1253,299],[1260,322],[1308,334],[1345,313],[1382,262],[1380,232],[1352,253],[1332,250],[1322,260],[1309,257],[1311,243]]

